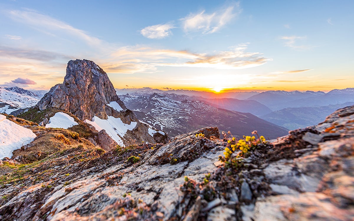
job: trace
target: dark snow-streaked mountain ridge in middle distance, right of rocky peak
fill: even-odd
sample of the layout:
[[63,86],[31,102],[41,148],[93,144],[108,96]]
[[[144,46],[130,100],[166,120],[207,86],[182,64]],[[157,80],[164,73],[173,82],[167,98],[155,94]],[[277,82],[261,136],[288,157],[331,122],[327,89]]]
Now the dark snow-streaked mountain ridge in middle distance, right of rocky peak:
[[139,120],[164,130],[170,136],[190,132],[201,127],[218,126],[221,131],[231,131],[234,136],[250,135],[253,130],[268,138],[288,133],[268,121],[250,113],[241,113],[213,107],[202,101],[176,101],[165,95],[121,95],[126,107],[137,112]]

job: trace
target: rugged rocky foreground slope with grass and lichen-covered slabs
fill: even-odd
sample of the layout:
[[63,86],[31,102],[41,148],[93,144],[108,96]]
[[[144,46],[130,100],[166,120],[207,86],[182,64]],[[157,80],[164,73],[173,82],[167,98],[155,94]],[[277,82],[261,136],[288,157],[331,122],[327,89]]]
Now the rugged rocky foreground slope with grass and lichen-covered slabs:
[[[203,133],[204,136],[195,136]],[[217,128],[0,167],[0,220],[353,220],[354,106],[224,163]]]

